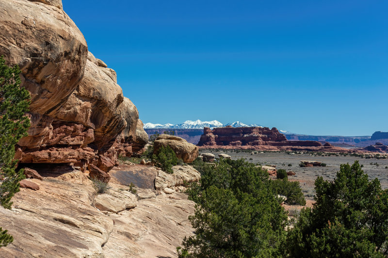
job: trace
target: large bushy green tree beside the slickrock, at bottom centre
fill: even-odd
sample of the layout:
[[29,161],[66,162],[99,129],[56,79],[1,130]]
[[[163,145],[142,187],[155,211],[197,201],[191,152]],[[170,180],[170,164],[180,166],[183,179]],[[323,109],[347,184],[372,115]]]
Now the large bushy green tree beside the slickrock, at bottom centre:
[[189,198],[194,235],[185,237],[180,257],[278,257],[287,215],[268,173],[244,160],[196,165],[201,182]]

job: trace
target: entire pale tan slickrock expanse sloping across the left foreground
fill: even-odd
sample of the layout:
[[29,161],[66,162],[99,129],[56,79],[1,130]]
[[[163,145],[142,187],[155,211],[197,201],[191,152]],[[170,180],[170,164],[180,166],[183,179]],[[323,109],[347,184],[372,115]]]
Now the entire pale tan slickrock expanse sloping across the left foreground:
[[40,189],[20,189],[12,210],[0,207],[0,225],[14,236],[2,258],[177,257],[193,231],[194,202],[183,193],[138,189],[137,200],[127,186],[110,184],[97,195],[79,170],[28,181]]

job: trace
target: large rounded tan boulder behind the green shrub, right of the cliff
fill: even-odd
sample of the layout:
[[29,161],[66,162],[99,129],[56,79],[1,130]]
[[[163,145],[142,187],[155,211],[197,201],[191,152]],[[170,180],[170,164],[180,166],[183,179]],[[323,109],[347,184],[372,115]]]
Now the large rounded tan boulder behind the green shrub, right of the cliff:
[[158,153],[162,146],[170,146],[183,162],[193,162],[198,157],[198,147],[177,136],[160,135],[154,142],[154,153]]

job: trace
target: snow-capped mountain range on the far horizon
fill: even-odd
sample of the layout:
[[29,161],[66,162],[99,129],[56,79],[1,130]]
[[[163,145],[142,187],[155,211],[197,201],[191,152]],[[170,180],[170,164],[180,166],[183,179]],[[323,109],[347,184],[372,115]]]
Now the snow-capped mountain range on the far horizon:
[[178,124],[172,124],[172,123],[166,123],[166,124],[160,124],[160,123],[145,123],[144,129],[158,129],[158,128],[172,128],[172,129],[203,129],[204,127],[223,127],[223,126],[232,126],[232,127],[253,127],[253,126],[259,126],[263,127],[259,124],[245,124],[240,121],[230,122],[227,124],[223,124],[220,121],[213,120],[213,121],[200,121],[199,119],[196,121],[184,121],[183,123]]

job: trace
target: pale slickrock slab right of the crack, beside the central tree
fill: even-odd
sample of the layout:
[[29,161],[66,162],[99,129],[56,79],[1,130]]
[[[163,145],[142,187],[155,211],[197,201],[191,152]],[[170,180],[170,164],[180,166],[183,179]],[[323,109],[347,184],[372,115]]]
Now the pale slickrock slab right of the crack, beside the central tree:
[[182,193],[142,199],[132,210],[109,214],[114,228],[102,249],[107,258],[177,257],[176,247],[194,230],[188,220],[194,211]]

